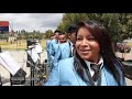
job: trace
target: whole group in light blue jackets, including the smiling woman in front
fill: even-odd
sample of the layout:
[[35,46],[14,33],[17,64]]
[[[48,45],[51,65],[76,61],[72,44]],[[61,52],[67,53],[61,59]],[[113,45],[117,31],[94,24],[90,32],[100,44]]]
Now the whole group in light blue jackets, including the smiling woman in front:
[[43,86],[125,86],[122,63],[97,21],[56,30],[46,43],[51,73]]

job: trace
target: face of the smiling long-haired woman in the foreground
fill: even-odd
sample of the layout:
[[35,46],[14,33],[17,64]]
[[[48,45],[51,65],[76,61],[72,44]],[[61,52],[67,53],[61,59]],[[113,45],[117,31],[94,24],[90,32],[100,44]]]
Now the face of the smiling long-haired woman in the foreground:
[[76,50],[82,59],[98,63],[100,55],[99,43],[85,26],[78,30]]

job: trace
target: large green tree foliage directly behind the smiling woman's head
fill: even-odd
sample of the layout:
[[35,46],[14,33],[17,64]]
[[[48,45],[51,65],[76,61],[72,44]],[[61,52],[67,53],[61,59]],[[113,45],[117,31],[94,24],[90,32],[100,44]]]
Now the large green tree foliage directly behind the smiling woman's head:
[[101,22],[114,43],[132,37],[132,13],[65,13],[57,29],[66,32],[70,24],[88,20]]

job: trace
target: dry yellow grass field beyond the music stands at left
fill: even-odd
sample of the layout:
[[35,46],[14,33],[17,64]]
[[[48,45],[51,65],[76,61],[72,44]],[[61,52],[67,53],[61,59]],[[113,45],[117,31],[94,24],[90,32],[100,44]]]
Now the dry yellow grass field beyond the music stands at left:
[[[45,50],[46,46],[46,40],[41,41],[42,47]],[[13,51],[13,50],[20,50],[23,51],[26,48],[26,41],[25,40],[19,40],[14,43],[7,43],[6,41],[0,42],[0,46],[2,50]]]

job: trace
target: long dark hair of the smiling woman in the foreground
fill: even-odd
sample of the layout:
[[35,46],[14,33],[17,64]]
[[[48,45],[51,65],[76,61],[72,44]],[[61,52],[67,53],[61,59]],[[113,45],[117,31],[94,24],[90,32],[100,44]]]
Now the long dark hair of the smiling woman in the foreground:
[[[123,68],[121,62],[118,61],[118,58],[116,57],[112,51],[111,38],[107,33],[107,30],[97,21],[79,22],[77,24],[76,36],[78,30],[82,26],[87,28],[88,31],[98,41],[100,45],[100,54],[102,55],[103,62],[106,64],[105,66],[107,66],[107,68],[110,69],[110,72],[113,74],[113,77],[120,85],[120,73],[118,69],[120,68],[123,72]],[[82,67],[86,68],[86,63],[78,55],[78,53],[75,52],[75,69],[77,70],[78,75],[80,75],[80,77],[85,80]]]

